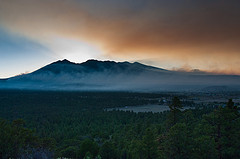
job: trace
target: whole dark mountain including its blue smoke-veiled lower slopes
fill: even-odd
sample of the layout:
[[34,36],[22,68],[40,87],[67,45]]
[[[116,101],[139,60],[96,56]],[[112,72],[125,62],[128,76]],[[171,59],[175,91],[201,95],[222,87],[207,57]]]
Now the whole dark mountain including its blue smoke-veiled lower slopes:
[[239,81],[237,75],[170,71],[138,62],[88,60],[78,64],[65,59],[29,74],[2,79],[0,88],[84,91],[216,91],[220,88],[235,91],[240,90]]

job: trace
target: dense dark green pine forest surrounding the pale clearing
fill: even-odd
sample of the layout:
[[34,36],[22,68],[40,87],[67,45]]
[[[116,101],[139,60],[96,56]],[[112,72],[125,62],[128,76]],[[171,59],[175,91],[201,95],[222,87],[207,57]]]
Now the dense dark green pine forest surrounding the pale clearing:
[[[105,110],[161,98],[169,99],[169,111]],[[184,93],[0,91],[0,158],[240,158],[238,104],[185,99]],[[194,109],[181,109],[189,104]]]

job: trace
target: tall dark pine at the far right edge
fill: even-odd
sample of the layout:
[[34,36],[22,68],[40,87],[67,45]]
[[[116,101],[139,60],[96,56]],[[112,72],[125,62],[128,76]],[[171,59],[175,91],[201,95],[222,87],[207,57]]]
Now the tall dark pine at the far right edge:
[[240,158],[240,115],[231,99],[226,107],[205,115],[203,123],[209,129],[206,135],[215,141],[219,159]]

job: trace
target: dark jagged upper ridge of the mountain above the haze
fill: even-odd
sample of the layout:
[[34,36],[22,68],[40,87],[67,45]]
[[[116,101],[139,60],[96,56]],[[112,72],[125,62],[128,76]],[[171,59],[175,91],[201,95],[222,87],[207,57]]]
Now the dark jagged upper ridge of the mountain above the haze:
[[68,60],[60,60],[54,62],[50,65],[47,65],[35,72],[37,73],[44,73],[44,72],[51,72],[54,74],[59,73],[96,73],[96,72],[108,72],[111,74],[118,74],[118,73],[129,73],[129,74],[136,74],[141,72],[147,71],[165,71],[160,68],[146,66],[140,64],[138,62],[129,63],[129,62],[115,62],[115,61],[98,61],[98,60],[88,60],[81,64],[73,63]]

